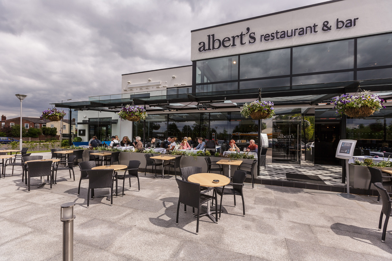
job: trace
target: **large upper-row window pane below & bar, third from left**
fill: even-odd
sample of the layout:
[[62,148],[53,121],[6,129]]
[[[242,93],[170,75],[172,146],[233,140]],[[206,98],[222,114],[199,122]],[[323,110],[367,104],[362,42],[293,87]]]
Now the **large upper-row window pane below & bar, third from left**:
[[293,47],[293,74],[354,68],[354,40]]

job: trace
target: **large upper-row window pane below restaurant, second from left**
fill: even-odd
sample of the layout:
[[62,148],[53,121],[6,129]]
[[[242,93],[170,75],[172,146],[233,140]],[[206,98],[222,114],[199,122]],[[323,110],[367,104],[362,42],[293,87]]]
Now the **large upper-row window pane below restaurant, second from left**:
[[290,74],[290,49],[241,54],[240,79]]

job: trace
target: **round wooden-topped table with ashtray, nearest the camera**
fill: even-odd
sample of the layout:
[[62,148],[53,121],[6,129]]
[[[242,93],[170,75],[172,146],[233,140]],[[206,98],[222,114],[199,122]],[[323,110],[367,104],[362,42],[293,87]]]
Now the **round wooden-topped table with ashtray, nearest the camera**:
[[[213,183],[212,181],[214,179],[218,179],[219,183]],[[198,183],[200,186],[203,187],[222,187],[230,183],[230,179],[221,175],[221,174],[216,174],[216,173],[198,173],[198,174],[193,174],[188,177],[189,182],[193,183]],[[211,191],[208,192],[209,195],[211,195]],[[203,208],[204,207],[204,208]],[[218,204],[215,202],[215,207],[218,207]],[[211,211],[211,203],[207,202],[207,208],[205,206],[201,206],[203,210],[205,210],[205,213],[200,214],[200,216],[208,216],[214,223],[218,223],[217,220],[215,220],[214,215],[212,214],[214,211]],[[197,215],[195,216],[197,217]]]

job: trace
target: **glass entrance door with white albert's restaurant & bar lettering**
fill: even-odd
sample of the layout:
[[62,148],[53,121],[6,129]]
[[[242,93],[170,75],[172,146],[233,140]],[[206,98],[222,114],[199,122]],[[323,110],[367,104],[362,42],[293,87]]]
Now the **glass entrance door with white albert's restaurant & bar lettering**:
[[272,163],[301,163],[301,120],[272,120]]

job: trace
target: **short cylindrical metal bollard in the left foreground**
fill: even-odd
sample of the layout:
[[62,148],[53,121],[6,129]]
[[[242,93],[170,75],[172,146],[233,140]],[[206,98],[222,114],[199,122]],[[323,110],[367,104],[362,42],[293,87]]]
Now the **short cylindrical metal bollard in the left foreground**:
[[75,203],[61,205],[60,220],[63,222],[63,261],[73,261],[73,214]]

